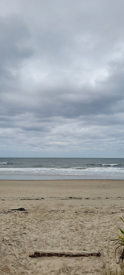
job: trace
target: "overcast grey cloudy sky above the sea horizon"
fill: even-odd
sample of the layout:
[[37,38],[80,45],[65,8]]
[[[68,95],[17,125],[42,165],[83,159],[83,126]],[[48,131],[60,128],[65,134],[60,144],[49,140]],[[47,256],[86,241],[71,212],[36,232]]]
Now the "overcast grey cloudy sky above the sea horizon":
[[1,157],[124,157],[123,12],[0,0]]

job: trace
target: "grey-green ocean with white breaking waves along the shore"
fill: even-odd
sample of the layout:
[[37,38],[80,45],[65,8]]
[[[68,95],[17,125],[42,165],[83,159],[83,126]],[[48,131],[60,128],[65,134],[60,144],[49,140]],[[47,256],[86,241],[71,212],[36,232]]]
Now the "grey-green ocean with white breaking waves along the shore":
[[0,158],[0,179],[124,179],[124,158]]

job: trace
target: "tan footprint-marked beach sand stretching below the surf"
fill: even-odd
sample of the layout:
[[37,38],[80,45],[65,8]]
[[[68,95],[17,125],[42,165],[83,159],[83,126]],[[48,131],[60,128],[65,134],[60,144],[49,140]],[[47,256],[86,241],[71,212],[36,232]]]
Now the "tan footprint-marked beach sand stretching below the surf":
[[[0,274],[94,275],[115,266],[124,180],[0,180]],[[25,208],[26,211],[11,209]],[[35,250],[101,257],[30,258]],[[117,255],[119,255],[117,253]]]

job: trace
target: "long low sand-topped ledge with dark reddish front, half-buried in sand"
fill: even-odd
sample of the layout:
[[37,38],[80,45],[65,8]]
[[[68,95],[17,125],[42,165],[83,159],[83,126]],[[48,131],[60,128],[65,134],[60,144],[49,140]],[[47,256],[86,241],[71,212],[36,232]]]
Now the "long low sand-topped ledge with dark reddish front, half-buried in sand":
[[89,257],[89,256],[97,256],[100,257],[101,254],[99,251],[34,251],[34,253],[30,253],[29,257]]

